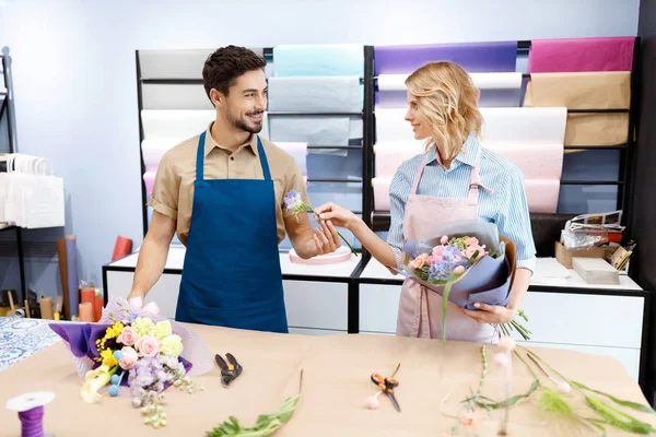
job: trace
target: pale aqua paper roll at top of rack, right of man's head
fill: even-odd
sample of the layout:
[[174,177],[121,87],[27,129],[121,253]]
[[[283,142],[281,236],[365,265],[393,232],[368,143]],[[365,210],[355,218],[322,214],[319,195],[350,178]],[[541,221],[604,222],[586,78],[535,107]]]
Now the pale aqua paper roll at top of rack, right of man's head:
[[274,76],[364,76],[364,46],[359,44],[273,47]]

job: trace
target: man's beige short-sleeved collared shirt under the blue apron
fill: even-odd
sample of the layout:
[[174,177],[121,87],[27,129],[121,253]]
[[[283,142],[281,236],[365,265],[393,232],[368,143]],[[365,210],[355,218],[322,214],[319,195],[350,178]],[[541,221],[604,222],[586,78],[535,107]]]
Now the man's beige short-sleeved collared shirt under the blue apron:
[[[212,139],[210,133],[212,123],[206,133],[204,179],[263,179],[257,150],[257,135],[250,135],[249,142],[231,153]],[[153,192],[149,201],[149,206],[177,221],[177,236],[185,246],[191,225],[196,153],[199,138],[200,134],[190,138],[164,154],[157,167]],[[294,190],[307,199],[307,191],[296,161],[276,144],[261,137],[260,140],[273,179],[276,224],[280,244],[285,236],[284,217],[292,215],[284,208],[285,193]],[[247,202],[248,199],[244,199],[244,201]],[[221,213],[222,211],[216,211],[216,214]],[[226,231],[241,232],[242,229]]]

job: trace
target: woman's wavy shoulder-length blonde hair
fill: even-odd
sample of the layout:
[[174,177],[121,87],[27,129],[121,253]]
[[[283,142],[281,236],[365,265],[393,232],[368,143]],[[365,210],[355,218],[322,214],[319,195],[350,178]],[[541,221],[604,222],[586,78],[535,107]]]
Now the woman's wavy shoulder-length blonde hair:
[[457,63],[431,62],[406,79],[408,91],[417,97],[417,109],[431,128],[426,150],[443,144],[442,158],[453,160],[470,133],[480,137],[483,117],[478,108],[480,92],[471,76]]

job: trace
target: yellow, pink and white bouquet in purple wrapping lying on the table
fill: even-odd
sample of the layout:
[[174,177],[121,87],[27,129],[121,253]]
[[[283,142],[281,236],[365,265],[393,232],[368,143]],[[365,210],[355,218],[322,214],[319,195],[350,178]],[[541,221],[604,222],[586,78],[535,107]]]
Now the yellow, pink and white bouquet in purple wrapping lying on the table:
[[144,423],[154,427],[166,425],[163,391],[174,386],[192,393],[190,377],[213,368],[200,338],[159,316],[153,303],[139,307],[113,298],[98,323],[54,322],[50,329],[63,339],[84,378],[84,401],[98,402],[107,387],[110,397],[131,397]]

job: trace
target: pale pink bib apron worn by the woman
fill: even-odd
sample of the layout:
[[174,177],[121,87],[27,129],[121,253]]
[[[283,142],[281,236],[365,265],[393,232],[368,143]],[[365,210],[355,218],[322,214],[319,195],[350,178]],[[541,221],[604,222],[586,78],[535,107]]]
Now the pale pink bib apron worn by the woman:
[[[441,223],[478,217],[480,149],[471,170],[469,197],[467,198],[417,194],[427,156],[426,153],[414,175],[403,216],[403,237],[414,241],[440,237],[441,235],[435,235],[435,233],[440,231]],[[437,157],[437,160],[440,158]],[[448,340],[496,343],[499,334],[499,326],[479,323],[460,312],[456,304],[450,302],[447,304],[446,338]],[[442,339],[442,296],[406,279],[399,302],[397,335]]]

